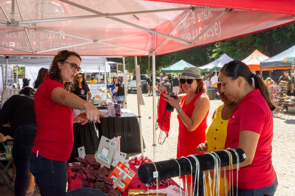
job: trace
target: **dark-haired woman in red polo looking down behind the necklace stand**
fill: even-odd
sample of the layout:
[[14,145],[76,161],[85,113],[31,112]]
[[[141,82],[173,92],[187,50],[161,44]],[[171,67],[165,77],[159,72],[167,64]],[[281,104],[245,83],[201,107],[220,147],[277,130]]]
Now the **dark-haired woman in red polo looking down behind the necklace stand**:
[[238,187],[237,166],[234,165],[230,191],[233,189],[234,193],[238,192],[238,195],[243,196],[274,195],[278,181],[271,162],[271,111],[275,106],[271,102],[268,89],[241,61],[225,64],[219,72],[219,81],[220,90],[225,95],[233,101],[240,101],[230,116],[224,148],[242,148],[246,153],[245,161],[240,163]]

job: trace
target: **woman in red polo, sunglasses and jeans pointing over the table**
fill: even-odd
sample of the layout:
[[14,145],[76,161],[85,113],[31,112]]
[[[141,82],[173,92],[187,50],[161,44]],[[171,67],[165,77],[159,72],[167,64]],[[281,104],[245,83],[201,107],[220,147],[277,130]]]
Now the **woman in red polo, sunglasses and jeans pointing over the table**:
[[[81,57],[72,51],[59,51],[49,75],[35,94],[37,133],[30,157],[30,171],[36,177],[40,193],[65,195],[67,161],[74,143],[73,123],[87,119],[99,122],[105,117],[93,104],[70,92],[72,80],[81,68]],[[71,110],[85,110],[73,117]],[[82,124],[83,124],[82,123]]]

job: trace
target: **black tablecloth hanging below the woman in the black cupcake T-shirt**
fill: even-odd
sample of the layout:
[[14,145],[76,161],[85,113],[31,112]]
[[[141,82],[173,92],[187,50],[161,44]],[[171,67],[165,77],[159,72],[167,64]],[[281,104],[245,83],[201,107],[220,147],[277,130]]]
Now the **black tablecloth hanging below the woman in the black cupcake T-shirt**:
[[84,146],[86,155],[94,155],[99,146],[99,138],[96,134],[94,123],[88,121],[85,125],[73,123],[74,145],[68,163],[78,162],[78,148]]

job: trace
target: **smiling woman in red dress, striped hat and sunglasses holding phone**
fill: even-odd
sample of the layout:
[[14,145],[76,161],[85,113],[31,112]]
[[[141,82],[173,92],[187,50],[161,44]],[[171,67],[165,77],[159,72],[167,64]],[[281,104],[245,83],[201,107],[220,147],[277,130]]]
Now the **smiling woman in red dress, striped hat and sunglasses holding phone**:
[[[196,152],[196,146],[204,143],[205,131],[207,129],[207,116],[210,102],[206,94],[206,84],[202,80],[199,68],[186,67],[179,79],[179,88],[183,94],[178,95],[178,100],[164,94],[166,100],[177,110],[179,122],[177,158],[186,157],[191,154],[203,154]],[[160,93],[166,91],[164,86],[160,87]],[[185,176],[181,176],[183,185]],[[191,194],[191,176],[187,175],[187,185]],[[185,187],[184,187],[185,188]]]

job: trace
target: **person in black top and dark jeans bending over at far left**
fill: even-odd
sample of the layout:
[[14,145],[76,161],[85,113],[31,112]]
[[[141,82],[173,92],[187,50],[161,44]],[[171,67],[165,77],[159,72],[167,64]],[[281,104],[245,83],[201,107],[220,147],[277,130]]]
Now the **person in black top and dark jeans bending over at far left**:
[[[35,90],[27,87],[13,95],[2,106],[0,124],[10,126],[14,138],[12,157],[17,170],[15,195],[34,193],[34,176],[30,173],[30,155],[36,137]],[[27,191],[26,191],[27,190]]]

